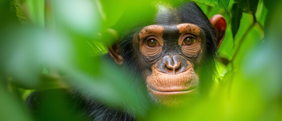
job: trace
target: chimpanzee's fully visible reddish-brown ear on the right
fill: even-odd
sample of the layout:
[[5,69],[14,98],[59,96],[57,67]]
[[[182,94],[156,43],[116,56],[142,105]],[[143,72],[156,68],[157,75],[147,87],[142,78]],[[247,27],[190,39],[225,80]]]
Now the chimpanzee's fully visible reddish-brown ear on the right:
[[225,36],[227,23],[225,18],[221,15],[214,15],[209,19],[209,21],[211,23],[212,28],[215,30],[215,37],[217,39],[216,49],[218,49]]

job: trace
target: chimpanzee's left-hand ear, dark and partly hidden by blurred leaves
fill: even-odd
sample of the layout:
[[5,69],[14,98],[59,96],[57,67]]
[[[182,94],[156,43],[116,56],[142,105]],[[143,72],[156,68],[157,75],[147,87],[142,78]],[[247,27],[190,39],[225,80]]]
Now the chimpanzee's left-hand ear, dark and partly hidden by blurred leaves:
[[114,58],[115,62],[119,65],[123,64],[123,57],[121,55],[121,46],[118,41],[118,33],[114,29],[107,29],[107,32],[112,36],[112,38],[116,39],[116,43],[112,44],[111,46],[107,47],[107,51],[109,55]]

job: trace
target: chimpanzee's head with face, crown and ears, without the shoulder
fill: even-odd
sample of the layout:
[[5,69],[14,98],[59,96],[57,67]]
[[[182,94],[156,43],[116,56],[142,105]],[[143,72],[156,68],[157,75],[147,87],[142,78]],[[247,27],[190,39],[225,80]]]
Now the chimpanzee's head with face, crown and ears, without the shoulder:
[[[203,70],[199,65],[208,54],[215,55],[227,24],[221,15],[208,20],[193,3],[179,9],[161,6],[155,20],[134,33],[133,50],[121,50],[133,52],[152,101],[178,105],[198,94],[202,83],[198,73]],[[132,61],[117,48],[108,50],[118,64],[123,58]]]

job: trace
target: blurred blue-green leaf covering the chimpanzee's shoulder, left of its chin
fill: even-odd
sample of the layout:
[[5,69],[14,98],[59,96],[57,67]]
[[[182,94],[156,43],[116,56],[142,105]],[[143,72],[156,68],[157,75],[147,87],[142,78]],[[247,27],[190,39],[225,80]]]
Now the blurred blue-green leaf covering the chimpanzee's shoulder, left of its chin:
[[109,61],[102,61],[99,65],[102,67],[99,70],[100,75],[93,76],[67,67],[63,71],[68,74],[67,81],[86,97],[101,100],[107,105],[142,113],[145,110],[147,99],[140,93],[145,90],[138,89],[142,85],[134,85],[139,83],[136,81],[140,80],[129,80],[130,75],[126,75],[125,70],[121,70],[120,67]]

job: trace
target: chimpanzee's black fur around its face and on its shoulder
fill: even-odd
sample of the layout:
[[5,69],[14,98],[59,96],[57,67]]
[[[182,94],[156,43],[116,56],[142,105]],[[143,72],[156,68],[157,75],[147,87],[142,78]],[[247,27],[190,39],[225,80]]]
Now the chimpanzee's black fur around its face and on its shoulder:
[[[211,27],[211,24],[208,20],[208,18],[205,16],[205,14],[200,10],[200,8],[193,2],[189,2],[188,4],[185,4],[184,6],[180,6],[177,9],[172,9],[170,13],[175,13],[175,16],[171,16],[172,14],[162,13],[157,11],[154,7],[150,8],[148,7],[147,10],[150,12],[149,17],[147,15],[140,15],[136,16],[135,18],[128,18],[132,14],[132,12],[125,13],[124,17],[120,20],[120,22],[117,23],[116,26],[113,27],[113,29],[116,29],[119,32],[120,35],[120,46],[122,48],[122,56],[124,58],[123,67],[126,70],[129,70],[129,75],[133,77],[137,77],[137,80],[133,80],[135,87],[140,88],[138,86],[143,86],[141,88],[146,88],[145,86],[145,80],[140,78],[142,75],[142,72],[148,69],[148,64],[140,64],[136,61],[139,59],[140,55],[133,51],[133,36],[134,33],[138,32],[141,28],[147,25],[152,24],[159,24],[159,25],[173,25],[177,23],[192,23],[198,25],[200,28],[202,28],[205,31],[205,52],[204,57],[201,60],[201,64],[195,66],[195,70],[199,75],[200,80],[200,92],[201,95],[207,95],[210,89],[212,88],[212,85],[214,83],[214,76],[216,75],[216,68],[215,68],[215,58],[216,58],[216,47],[215,47],[215,36],[214,36],[214,30]],[[165,15],[167,14],[167,15]],[[157,15],[157,16],[153,16]],[[131,25],[125,24],[126,23],[132,23]],[[62,95],[66,96],[66,100],[70,102],[66,104],[66,108],[71,107],[69,110],[69,116],[68,119],[70,120],[135,120],[136,117],[134,114],[131,114],[128,110],[121,110],[120,108],[112,108],[109,106],[104,105],[102,102],[93,100],[92,98],[89,99],[85,95],[81,93],[76,93],[75,91],[68,91],[68,90],[53,90],[53,91],[47,91],[47,94],[45,94],[46,91],[41,92],[35,92],[31,94],[27,102],[29,104],[29,107],[31,107],[31,110],[33,113],[38,117],[38,119],[44,118],[42,116],[42,111],[45,108],[43,107],[52,107],[54,105],[49,105],[49,103],[44,104],[46,100],[55,100],[52,96],[53,94],[60,93]],[[42,98],[42,95],[49,95],[48,98]],[[148,95],[144,95],[146,97]],[[43,100],[46,99],[46,100]],[[57,107],[50,108],[50,109],[56,109]],[[49,109],[49,108],[47,108]],[[54,111],[56,112],[56,111]],[[51,111],[52,113],[52,111]],[[59,112],[60,114],[62,112]],[[64,115],[65,113],[62,113],[61,115]],[[41,115],[41,116],[40,116]],[[46,116],[46,115],[45,115]],[[48,117],[47,115],[46,117]],[[59,120],[56,119],[56,117],[51,118],[51,120]],[[66,120],[66,119],[63,119]]]

